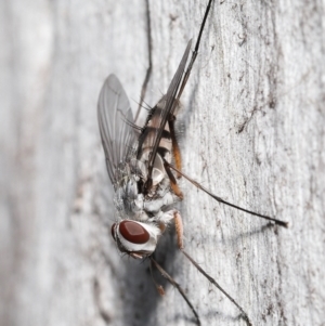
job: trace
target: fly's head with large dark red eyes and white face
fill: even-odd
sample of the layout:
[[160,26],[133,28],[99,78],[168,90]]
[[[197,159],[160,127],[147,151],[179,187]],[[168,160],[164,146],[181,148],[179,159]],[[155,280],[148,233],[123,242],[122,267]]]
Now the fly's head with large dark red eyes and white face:
[[154,222],[122,220],[112,225],[112,236],[120,252],[136,259],[151,256],[161,235],[161,229]]

